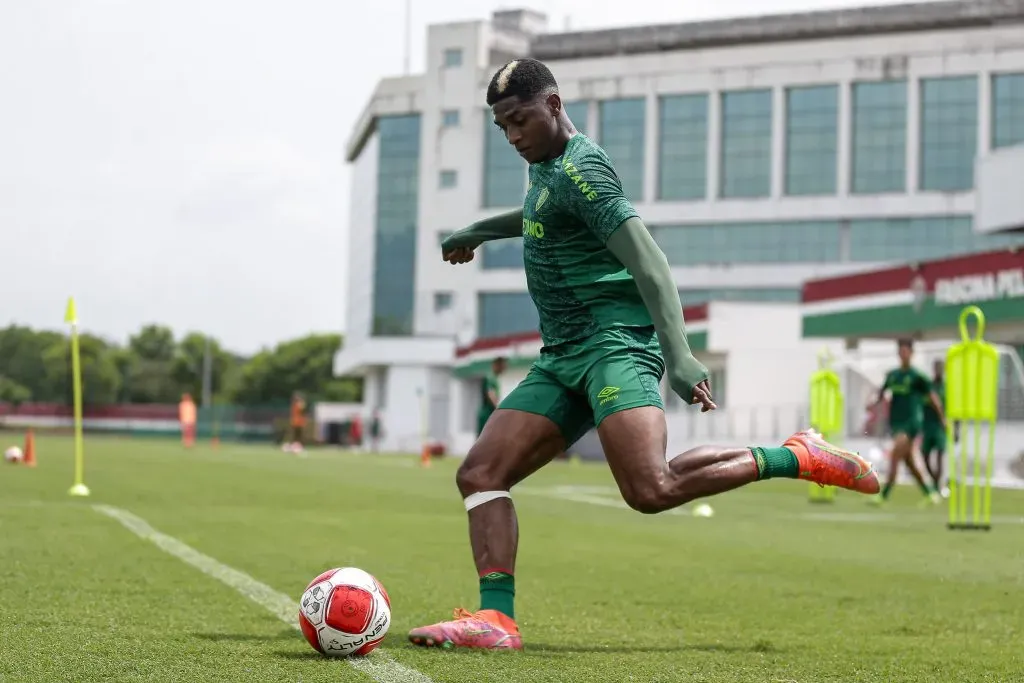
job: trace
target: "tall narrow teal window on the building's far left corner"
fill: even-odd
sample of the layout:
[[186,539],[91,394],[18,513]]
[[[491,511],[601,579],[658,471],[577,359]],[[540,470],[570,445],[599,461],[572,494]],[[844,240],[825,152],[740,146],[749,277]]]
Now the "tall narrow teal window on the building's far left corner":
[[416,300],[416,219],[420,116],[385,116],[378,123],[377,229],[374,250],[374,336],[413,334]]

